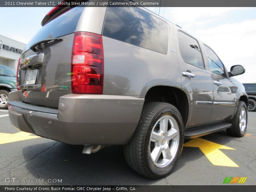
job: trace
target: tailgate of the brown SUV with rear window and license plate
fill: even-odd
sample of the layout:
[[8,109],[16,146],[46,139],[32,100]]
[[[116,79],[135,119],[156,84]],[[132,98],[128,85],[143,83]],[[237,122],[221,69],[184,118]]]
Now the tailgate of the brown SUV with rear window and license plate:
[[[59,98],[71,93],[71,54],[74,32],[84,7],[75,7],[44,25],[26,46],[20,59],[18,85],[22,101],[58,108]],[[30,47],[44,39],[60,41]]]

